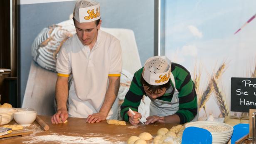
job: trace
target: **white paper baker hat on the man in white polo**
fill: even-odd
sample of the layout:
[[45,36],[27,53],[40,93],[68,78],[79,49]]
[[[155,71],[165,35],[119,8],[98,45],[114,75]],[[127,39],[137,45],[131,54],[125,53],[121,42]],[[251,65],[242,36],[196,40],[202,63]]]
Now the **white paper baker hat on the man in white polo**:
[[100,19],[100,3],[94,0],[78,0],[74,8],[73,17],[79,23],[93,22]]

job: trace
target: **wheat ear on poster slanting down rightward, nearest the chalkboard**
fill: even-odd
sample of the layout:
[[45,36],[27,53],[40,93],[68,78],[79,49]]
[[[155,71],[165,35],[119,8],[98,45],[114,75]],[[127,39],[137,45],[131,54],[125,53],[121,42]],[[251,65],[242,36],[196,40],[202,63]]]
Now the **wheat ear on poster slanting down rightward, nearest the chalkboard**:
[[215,78],[212,78],[212,85],[214,88],[215,97],[219,105],[219,110],[221,111],[222,117],[225,117],[226,115],[229,115],[229,108],[226,106],[226,102],[223,98],[224,95],[222,94]]

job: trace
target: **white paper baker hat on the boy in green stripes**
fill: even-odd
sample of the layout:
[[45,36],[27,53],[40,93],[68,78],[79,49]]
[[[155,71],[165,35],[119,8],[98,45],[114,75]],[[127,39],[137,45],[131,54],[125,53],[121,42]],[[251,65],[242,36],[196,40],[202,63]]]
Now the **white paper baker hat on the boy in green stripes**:
[[166,56],[153,56],[144,65],[142,76],[150,85],[163,85],[170,79],[171,61]]

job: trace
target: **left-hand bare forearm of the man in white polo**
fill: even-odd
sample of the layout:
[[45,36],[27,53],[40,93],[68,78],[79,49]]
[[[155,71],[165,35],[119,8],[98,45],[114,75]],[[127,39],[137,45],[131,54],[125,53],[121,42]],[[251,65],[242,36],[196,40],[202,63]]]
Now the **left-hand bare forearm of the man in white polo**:
[[57,110],[66,109],[67,98],[68,98],[68,84],[62,83],[62,81],[57,80],[56,82]]

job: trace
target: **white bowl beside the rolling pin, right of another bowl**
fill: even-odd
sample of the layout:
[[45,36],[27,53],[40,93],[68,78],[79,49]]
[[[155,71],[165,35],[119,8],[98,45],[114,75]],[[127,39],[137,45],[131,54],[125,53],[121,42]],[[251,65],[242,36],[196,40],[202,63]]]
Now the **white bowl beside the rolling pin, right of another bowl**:
[[36,111],[18,111],[14,113],[14,120],[23,127],[30,126],[36,118]]

